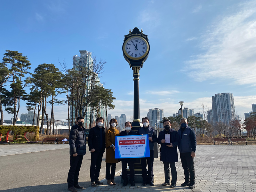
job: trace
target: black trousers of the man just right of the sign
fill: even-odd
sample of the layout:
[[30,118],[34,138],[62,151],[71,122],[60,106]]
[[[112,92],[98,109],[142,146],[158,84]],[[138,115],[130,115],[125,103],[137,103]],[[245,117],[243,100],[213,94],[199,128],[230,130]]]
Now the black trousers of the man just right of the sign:
[[[154,150],[150,150],[150,157],[140,158],[142,179],[143,182],[153,181],[153,163],[154,163]],[[148,162],[148,175],[147,175],[147,162]]]

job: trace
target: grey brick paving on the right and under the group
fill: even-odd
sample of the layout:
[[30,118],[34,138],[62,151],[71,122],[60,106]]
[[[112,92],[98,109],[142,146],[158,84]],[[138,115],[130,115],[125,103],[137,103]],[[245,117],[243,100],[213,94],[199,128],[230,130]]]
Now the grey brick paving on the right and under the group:
[[184,182],[184,173],[180,162],[176,163],[178,180],[175,188],[162,186],[164,183],[164,165],[159,158],[154,159],[154,187],[142,186],[136,183],[135,187],[128,184],[123,187],[120,171],[116,172],[116,185],[89,187],[82,192],[93,191],[195,191],[195,192],[256,192],[256,146],[245,145],[198,145],[194,159],[196,170],[196,188],[181,187]]

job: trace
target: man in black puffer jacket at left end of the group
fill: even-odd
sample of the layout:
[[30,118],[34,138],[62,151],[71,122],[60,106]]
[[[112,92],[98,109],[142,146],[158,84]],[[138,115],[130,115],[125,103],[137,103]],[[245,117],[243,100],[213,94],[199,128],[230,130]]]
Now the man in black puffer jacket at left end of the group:
[[76,188],[84,188],[78,184],[79,171],[86,153],[86,134],[83,126],[84,117],[77,117],[76,124],[71,127],[69,133],[70,169],[68,172],[68,190],[72,192],[76,192]]

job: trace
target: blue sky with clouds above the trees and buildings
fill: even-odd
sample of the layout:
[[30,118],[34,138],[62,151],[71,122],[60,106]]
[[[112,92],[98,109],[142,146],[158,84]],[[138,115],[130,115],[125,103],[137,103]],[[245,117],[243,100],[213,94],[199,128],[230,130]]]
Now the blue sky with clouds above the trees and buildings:
[[[256,103],[256,1],[0,1],[0,61],[5,50],[37,65],[58,61],[71,68],[87,50],[106,60],[100,81],[112,89],[113,117],[133,116],[133,73],[124,60],[124,35],[148,35],[150,52],[140,70],[140,118],[149,108],[172,116],[183,107],[211,109],[216,93],[234,94],[236,112]],[[65,100],[65,96],[59,99]],[[50,114],[50,106],[47,109]],[[55,107],[55,119],[67,106]],[[200,109],[202,112],[202,107]],[[22,103],[20,113],[26,113]],[[19,115],[20,116],[20,115]],[[4,119],[12,115],[4,113]]]

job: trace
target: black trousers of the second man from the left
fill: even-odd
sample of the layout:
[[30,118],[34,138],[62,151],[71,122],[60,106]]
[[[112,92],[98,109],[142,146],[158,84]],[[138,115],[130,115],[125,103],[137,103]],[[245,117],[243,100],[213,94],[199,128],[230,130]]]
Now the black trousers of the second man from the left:
[[90,177],[92,182],[99,180],[103,153],[104,152],[91,152]]

